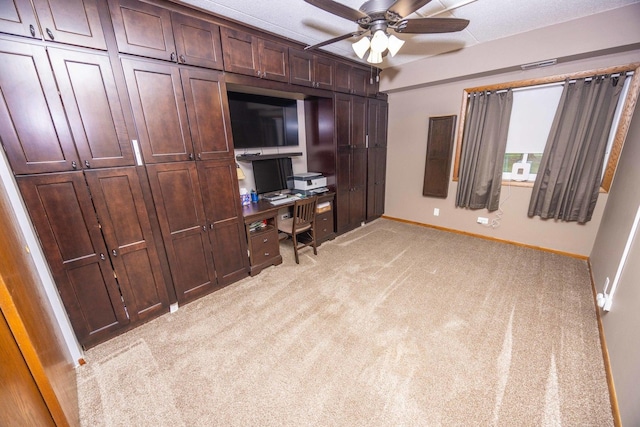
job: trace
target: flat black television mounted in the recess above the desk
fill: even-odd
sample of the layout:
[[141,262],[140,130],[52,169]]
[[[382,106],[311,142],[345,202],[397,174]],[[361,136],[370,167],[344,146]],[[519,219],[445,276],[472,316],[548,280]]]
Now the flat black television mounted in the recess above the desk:
[[235,148],[298,145],[295,99],[228,92]]

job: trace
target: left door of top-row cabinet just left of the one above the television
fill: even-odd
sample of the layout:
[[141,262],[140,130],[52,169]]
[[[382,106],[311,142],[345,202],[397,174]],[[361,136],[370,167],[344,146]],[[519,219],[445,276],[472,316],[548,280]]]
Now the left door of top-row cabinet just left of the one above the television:
[[120,52],[176,61],[168,9],[138,0],[109,0],[109,9]]

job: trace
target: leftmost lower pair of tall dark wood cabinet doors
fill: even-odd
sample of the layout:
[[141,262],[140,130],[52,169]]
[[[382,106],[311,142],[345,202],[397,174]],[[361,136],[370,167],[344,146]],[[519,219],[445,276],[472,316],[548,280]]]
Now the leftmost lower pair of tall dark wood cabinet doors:
[[76,337],[85,347],[169,311],[141,170],[17,178]]

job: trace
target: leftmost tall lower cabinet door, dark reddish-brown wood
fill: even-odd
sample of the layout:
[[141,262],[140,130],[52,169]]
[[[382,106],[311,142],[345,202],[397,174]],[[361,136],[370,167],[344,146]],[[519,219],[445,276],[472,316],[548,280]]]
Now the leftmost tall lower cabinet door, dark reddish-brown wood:
[[83,173],[17,181],[78,341],[109,338],[129,319]]

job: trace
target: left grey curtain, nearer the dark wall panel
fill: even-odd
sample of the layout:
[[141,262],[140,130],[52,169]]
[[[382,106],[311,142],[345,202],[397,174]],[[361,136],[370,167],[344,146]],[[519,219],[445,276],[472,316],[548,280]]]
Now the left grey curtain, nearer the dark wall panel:
[[506,92],[470,94],[462,137],[456,206],[495,211],[500,205],[502,165],[513,105]]

